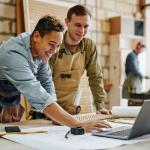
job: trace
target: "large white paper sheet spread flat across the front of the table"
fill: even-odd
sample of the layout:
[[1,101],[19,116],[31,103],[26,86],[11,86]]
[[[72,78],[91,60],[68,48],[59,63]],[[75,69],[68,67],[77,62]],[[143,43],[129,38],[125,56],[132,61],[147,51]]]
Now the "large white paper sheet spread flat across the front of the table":
[[[116,126],[117,124],[113,124],[113,127]],[[25,129],[22,131],[39,130],[46,130],[48,131],[48,133],[7,135],[4,136],[4,138],[39,150],[105,149],[150,139],[150,135],[146,135],[133,140],[118,140],[92,136],[91,133],[86,133],[84,135],[69,134],[69,138],[66,139],[64,136],[69,130],[69,128],[65,126],[40,127]]]

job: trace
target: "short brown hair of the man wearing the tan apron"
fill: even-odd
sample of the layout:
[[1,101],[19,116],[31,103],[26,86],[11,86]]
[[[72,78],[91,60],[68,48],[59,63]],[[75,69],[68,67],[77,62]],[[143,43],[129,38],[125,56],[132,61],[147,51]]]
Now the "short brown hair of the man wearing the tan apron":
[[83,5],[75,5],[75,6],[71,7],[67,13],[68,20],[71,20],[71,17],[73,14],[75,14],[76,16],[89,15],[91,17],[90,11]]

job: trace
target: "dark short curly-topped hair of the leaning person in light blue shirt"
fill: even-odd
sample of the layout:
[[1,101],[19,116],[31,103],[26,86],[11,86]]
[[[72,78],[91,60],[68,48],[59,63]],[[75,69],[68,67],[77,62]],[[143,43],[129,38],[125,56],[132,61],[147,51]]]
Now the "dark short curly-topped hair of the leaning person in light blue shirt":
[[51,31],[63,32],[64,26],[55,16],[46,15],[38,21],[32,32],[32,36],[35,31],[38,31],[41,37],[43,37]]

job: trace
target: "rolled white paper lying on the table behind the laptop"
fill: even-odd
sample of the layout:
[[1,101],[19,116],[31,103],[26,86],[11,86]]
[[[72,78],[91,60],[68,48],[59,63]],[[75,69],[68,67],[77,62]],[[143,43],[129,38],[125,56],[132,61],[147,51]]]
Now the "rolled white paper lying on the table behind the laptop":
[[113,106],[112,114],[118,117],[137,117],[141,106]]

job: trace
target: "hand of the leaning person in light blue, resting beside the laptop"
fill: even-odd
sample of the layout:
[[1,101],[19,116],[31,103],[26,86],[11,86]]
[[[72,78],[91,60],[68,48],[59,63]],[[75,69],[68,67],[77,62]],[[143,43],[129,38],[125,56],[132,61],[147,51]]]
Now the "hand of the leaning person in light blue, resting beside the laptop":
[[89,120],[82,122],[81,127],[84,128],[85,132],[91,132],[92,130],[100,130],[101,128],[111,128],[111,125],[102,120]]

